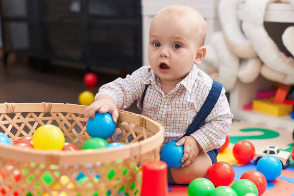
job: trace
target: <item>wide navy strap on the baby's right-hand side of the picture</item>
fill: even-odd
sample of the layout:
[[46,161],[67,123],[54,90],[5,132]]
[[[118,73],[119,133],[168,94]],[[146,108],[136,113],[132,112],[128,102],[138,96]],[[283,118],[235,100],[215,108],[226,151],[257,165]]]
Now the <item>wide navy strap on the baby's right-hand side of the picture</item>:
[[199,112],[196,114],[193,122],[188,127],[185,136],[189,136],[194,133],[201,125],[204,123],[205,119],[211,113],[212,109],[214,108],[215,104],[217,103],[222,90],[222,84],[216,81],[213,81],[212,87],[210,92],[204,101],[202,107],[200,108]]

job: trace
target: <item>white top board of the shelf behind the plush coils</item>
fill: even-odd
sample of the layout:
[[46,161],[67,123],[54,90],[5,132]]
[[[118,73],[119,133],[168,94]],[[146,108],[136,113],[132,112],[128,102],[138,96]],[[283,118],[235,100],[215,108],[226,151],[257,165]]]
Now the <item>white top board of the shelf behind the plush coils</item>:
[[[237,16],[242,20],[244,3],[240,3]],[[294,23],[294,7],[287,3],[269,3],[266,8],[265,22],[272,23]]]

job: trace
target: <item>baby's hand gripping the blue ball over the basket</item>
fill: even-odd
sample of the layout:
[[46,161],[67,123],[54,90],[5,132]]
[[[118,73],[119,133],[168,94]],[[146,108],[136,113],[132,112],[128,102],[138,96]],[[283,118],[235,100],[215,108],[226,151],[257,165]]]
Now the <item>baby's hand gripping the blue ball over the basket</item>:
[[85,117],[89,119],[95,118],[95,113],[99,112],[103,113],[110,113],[112,116],[113,121],[116,123],[119,118],[118,108],[114,104],[114,101],[109,96],[99,96],[94,103],[92,103],[89,107],[85,110]]

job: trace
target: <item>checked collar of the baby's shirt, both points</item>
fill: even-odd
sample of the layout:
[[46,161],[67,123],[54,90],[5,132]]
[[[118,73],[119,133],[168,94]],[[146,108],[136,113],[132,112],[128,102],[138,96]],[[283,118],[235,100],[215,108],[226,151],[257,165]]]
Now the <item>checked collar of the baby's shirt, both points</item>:
[[[192,70],[188,73],[188,75],[178,83],[178,85],[182,85],[187,89],[189,93],[192,92],[192,87],[196,81],[196,76],[198,74],[198,69],[196,65],[194,64]],[[150,68],[150,71],[147,73],[145,80],[143,81],[143,84],[150,84],[156,85],[157,82],[159,82],[159,78],[154,74],[152,69]]]

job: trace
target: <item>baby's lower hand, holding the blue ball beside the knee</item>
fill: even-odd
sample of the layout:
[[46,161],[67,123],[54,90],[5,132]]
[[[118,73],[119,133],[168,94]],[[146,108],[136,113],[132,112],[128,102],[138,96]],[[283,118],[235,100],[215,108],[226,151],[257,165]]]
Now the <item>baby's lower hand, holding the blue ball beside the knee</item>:
[[200,147],[192,136],[183,137],[175,145],[184,145],[184,156],[181,159],[181,161],[184,162],[184,164],[182,165],[183,168],[189,166],[191,163],[195,161],[195,158],[199,153]]

